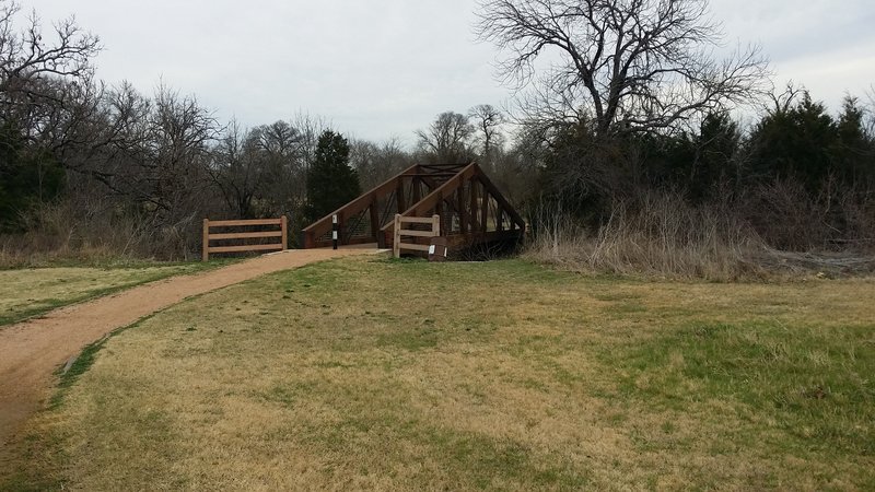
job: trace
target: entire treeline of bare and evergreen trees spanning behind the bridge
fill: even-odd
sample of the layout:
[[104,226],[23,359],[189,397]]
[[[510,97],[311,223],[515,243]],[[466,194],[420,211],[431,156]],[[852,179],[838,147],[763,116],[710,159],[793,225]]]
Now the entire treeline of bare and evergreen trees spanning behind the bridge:
[[[614,15],[606,19],[661,14],[596,3],[593,12]],[[552,12],[529,0],[485,5],[481,36],[505,46],[532,33],[513,31],[514,23],[537,27],[538,15]],[[492,26],[490,15],[502,23]],[[205,216],[285,214],[296,231],[337,200],[415,163],[474,160],[528,216],[536,236],[572,224],[575,237],[597,239],[588,246],[591,259],[607,235],[620,233],[711,249],[713,241],[755,238],[807,250],[867,246],[875,238],[872,101],[848,96],[830,114],[791,86],[748,105],[747,114],[755,107],[759,116],[743,126],[731,109],[759,83],[759,61],[750,56],[720,66],[724,80],[707,63],[682,58],[682,73],[695,83],[710,78],[703,89],[687,87],[698,97],[692,101],[670,98],[656,87],[661,79],[645,75],[608,73],[599,81],[597,70],[607,65],[587,72],[586,60],[572,60],[561,77],[545,78],[553,85],[522,99],[515,116],[487,104],[442,113],[408,149],[397,139],[345,138],[307,114],[244,128],[219,121],[196,97],[164,84],[151,95],[127,83],[107,86],[91,65],[98,38],[71,20],[44,37],[38,20],[16,30],[14,19],[16,7],[0,0],[0,246],[7,250],[186,257],[199,247]],[[658,23],[650,28],[666,32]],[[505,34],[511,37],[499,38]],[[630,67],[640,63],[630,60]],[[580,87],[593,90],[574,92]]]

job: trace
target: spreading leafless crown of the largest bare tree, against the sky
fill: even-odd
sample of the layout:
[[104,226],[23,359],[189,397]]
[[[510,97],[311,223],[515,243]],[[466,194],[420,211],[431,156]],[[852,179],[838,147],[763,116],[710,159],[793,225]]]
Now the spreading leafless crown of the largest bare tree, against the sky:
[[[478,35],[508,52],[501,74],[537,78],[536,107],[596,134],[670,129],[761,89],[756,47],[718,59],[707,0],[481,0]],[[558,62],[557,57],[558,56]],[[540,66],[552,68],[539,70]]]

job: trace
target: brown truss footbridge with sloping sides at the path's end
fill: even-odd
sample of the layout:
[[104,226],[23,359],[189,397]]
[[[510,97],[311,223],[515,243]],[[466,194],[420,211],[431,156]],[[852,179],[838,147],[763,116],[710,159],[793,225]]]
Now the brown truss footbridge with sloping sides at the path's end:
[[[441,235],[451,248],[518,242],[525,234],[523,218],[476,163],[418,164],[304,229],[301,244],[330,246],[337,215],[339,244],[390,248],[396,214],[439,215]],[[427,236],[406,241],[428,244]]]

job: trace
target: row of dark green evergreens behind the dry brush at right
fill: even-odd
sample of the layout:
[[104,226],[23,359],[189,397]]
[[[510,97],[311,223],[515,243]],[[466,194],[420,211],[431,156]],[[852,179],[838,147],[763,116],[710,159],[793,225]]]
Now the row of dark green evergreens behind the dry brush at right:
[[600,138],[591,128],[562,125],[536,140],[541,192],[591,229],[620,204],[646,213],[646,199],[667,194],[749,225],[775,248],[875,244],[875,132],[856,97],[833,116],[790,89],[748,128],[728,113],[677,132]]

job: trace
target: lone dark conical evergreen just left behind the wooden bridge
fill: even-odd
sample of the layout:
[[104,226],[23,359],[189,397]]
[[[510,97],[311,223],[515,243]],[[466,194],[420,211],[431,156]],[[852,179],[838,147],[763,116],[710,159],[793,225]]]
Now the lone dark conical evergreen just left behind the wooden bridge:
[[359,175],[349,165],[347,139],[326,130],[319,137],[315,160],[307,171],[307,220],[322,219],[360,194]]

